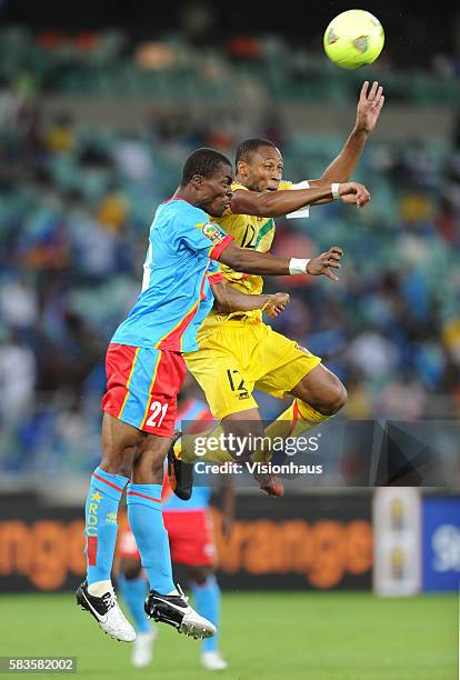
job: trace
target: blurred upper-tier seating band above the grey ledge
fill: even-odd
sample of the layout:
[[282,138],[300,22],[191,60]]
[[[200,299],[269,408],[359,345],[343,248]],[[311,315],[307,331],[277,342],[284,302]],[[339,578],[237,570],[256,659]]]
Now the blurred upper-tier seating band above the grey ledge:
[[[248,48],[249,44],[249,48]],[[24,28],[0,31],[0,77],[11,84],[28,73],[40,91],[183,101],[187,98],[234,101],[242,77],[257,81],[274,101],[329,101],[354,98],[361,73],[343,72],[311,48],[291,47],[279,36],[258,36],[199,51],[180,34],[130,43],[120,30],[68,36],[32,34]],[[436,63],[436,61],[434,61]],[[454,104],[453,68],[432,72],[392,70],[384,60],[367,77],[384,76],[393,102]]]

